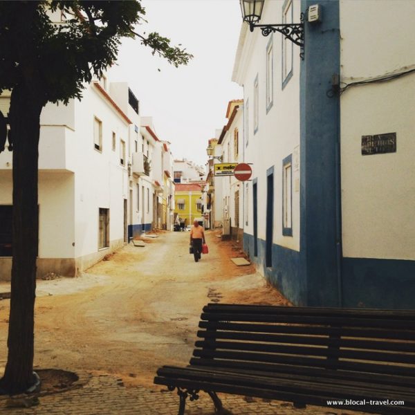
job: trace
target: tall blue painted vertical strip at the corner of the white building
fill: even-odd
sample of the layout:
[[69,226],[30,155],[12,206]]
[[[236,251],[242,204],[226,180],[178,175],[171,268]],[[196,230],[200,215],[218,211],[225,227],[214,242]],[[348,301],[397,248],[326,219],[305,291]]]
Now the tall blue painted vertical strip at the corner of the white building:
[[[302,0],[302,10],[315,3]],[[300,264],[308,306],[340,306],[336,165],[339,100],[329,98],[340,73],[338,0],[319,1],[322,23],[304,25],[300,67]]]

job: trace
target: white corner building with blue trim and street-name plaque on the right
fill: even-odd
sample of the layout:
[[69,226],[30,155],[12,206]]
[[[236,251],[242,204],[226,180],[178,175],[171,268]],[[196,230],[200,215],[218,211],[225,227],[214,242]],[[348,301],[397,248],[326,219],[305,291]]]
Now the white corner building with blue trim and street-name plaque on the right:
[[[299,23],[314,3],[266,0],[260,23]],[[241,27],[244,248],[295,304],[414,308],[415,4],[319,5],[304,60]]]

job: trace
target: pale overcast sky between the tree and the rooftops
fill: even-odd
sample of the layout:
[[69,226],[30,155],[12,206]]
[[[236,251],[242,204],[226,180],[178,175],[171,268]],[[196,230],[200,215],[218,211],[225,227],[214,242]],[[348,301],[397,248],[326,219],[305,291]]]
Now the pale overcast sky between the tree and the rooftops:
[[156,31],[194,58],[175,68],[138,40],[124,39],[109,80],[129,83],[140,115],[153,117],[158,137],[172,142],[175,158],[204,165],[208,139],[226,123],[228,101],[243,96],[231,80],[242,21],[239,1],[143,0],[142,6],[149,23],[140,33]]

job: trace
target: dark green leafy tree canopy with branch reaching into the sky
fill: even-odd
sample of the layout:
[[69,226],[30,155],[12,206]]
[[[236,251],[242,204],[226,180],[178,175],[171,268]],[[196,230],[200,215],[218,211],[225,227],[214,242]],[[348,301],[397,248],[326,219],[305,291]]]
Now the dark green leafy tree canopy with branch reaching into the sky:
[[166,37],[136,33],[144,16],[140,1],[0,1],[0,92],[24,85],[42,105],[81,98],[84,82],[116,62],[122,37],[187,64],[192,55]]

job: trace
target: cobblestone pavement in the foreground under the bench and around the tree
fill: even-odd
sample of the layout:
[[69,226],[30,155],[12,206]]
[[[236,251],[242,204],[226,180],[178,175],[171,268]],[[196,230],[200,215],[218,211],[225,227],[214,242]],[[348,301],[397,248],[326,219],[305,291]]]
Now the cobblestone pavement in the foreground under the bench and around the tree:
[[[83,379],[83,380],[82,380]],[[111,375],[80,375],[84,385],[77,389],[41,396],[39,405],[30,408],[6,407],[10,400],[0,399],[4,415],[176,415],[178,396],[167,389],[124,387],[122,380]],[[362,412],[308,406],[295,409],[291,403],[264,402],[241,396],[221,395],[223,406],[234,415],[364,415]],[[252,401],[252,402],[251,402]],[[199,400],[188,402],[186,415],[214,415],[212,400],[201,394]]]

